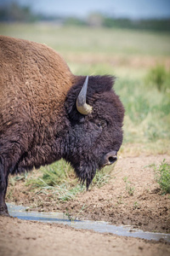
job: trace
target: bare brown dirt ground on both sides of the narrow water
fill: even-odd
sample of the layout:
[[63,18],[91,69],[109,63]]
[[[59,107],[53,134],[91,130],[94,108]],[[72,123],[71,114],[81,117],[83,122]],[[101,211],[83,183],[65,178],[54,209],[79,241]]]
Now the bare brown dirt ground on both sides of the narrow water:
[[[170,195],[162,195],[151,164],[169,155],[120,158],[110,183],[68,202],[34,194],[23,184],[8,188],[10,201],[44,212],[69,212],[78,218],[130,224],[140,230],[170,233]],[[9,200],[8,200],[9,201]],[[83,208],[83,210],[82,210]],[[74,230],[57,224],[0,218],[0,255],[170,255],[170,244]],[[10,242],[9,242],[10,241]]]

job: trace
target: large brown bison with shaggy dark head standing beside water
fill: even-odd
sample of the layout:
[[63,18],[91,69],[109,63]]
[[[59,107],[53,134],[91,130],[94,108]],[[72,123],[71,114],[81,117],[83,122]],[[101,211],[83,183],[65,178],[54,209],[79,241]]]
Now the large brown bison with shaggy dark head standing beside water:
[[0,214],[8,215],[8,175],[61,158],[87,189],[116,161],[124,108],[115,78],[77,76],[45,44],[0,37]]

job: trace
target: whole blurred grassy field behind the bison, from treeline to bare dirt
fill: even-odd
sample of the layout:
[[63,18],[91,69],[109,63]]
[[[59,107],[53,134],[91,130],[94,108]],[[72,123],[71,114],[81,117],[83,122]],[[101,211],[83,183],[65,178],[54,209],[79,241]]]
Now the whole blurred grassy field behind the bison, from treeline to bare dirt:
[[1,24],[0,34],[48,44],[75,74],[116,75],[126,109],[120,155],[170,154],[170,33]]

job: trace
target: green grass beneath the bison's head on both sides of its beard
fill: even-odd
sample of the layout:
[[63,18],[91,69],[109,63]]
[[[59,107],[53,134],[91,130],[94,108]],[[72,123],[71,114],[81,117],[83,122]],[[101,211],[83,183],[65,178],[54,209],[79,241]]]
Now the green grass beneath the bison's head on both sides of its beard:
[[[112,167],[113,168],[113,167]],[[97,172],[91,187],[102,187],[111,180],[111,169]],[[37,194],[52,193],[59,201],[69,201],[86,190],[86,186],[78,182],[77,177],[65,160],[59,160],[50,166],[41,167],[38,177],[18,176],[15,180],[25,179],[26,186]],[[13,178],[10,180],[13,183]]]

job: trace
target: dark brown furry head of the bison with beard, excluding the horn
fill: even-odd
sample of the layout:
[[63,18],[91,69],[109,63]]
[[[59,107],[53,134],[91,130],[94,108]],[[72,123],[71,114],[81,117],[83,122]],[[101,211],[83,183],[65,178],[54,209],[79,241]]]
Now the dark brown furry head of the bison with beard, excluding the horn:
[[113,163],[113,156],[122,145],[124,108],[111,90],[113,80],[109,76],[89,78],[87,102],[93,112],[86,116],[78,113],[76,108],[84,78],[71,88],[65,102],[70,125],[65,136],[67,150],[64,158],[74,167],[82,183],[86,181],[87,188],[96,169]]

